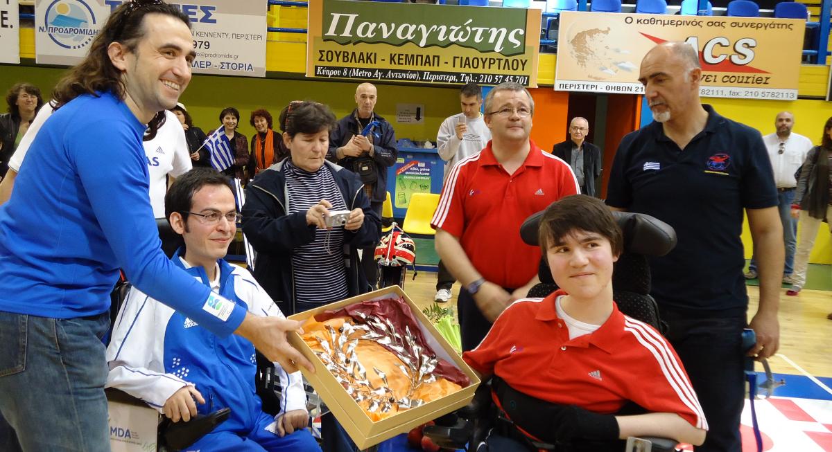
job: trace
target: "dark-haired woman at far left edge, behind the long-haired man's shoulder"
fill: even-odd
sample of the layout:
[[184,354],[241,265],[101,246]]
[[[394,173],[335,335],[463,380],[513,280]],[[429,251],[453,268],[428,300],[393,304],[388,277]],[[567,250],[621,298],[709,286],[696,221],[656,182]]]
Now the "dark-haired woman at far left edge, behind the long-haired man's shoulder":
[[0,178],[6,177],[8,160],[43,106],[41,90],[31,83],[17,83],[6,94],[6,104],[8,113],[0,115]]

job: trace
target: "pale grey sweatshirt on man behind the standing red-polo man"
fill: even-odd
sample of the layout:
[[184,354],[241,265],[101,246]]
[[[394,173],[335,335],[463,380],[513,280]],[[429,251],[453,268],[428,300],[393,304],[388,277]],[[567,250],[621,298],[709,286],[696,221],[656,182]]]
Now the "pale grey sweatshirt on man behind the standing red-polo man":
[[[468,125],[468,131],[465,132],[462,140],[457,138],[456,127],[460,122]],[[459,160],[483,150],[489,140],[491,140],[491,129],[485,125],[483,115],[479,115],[475,120],[469,120],[464,113],[459,113],[443,120],[442,125],[439,126],[439,133],[436,135],[436,149],[439,157],[446,162],[443,177],[448,177],[448,171]]]

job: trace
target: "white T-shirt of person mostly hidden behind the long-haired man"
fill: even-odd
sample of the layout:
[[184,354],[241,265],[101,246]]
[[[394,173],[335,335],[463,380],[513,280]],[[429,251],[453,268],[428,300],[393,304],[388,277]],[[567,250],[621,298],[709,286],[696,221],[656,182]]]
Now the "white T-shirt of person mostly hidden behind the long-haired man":
[[[52,115],[52,106],[49,102],[43,104],[37,112],[32,124],[26,134],[20,139],[8,166],[12,170],[20,172],[20,166],[32,140],[37,135],[47,118]],[[153,206],[153,215],[157,219],[165,217],[165,193],[167,192],[167,175],[179,177],[181,174],[191,170],[191,155],[188,152],[188,143],[185,140],[185,130],[176,115],[171,111],[165,111],[165,124],[156,131],[156,137],[150,141],[144,141],[145,155],[147,157],[147,171],[150,173],[150,197]]]

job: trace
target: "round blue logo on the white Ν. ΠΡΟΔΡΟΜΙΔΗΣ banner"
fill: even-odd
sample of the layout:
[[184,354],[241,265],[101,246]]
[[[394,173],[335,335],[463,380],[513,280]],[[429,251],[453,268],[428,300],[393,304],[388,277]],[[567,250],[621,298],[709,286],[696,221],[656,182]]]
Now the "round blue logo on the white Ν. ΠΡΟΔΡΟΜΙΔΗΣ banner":
[[47,33],[65,49],[86,47],[96,37],[96,16],[83,0],[55,0],[47,7],[43,25],[38,32]]

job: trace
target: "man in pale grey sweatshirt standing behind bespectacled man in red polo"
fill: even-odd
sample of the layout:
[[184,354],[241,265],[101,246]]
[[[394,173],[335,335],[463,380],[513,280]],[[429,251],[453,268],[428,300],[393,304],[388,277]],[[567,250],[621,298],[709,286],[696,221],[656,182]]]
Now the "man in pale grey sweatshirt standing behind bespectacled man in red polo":
[[[463,86],[459,91],[459,105],[462,113],[443,120],[436,136],[439,157],[445,160],[443,179],[448,179],[448,172],[459,160],[483,150],[491,140],[491,130],[479,112],[483,106],[483,90],[479,85],[472,82]],[[451,287],[455,279],[441,260],[438,267],[436,296],[433,301],[447,302],[451,299]]]

